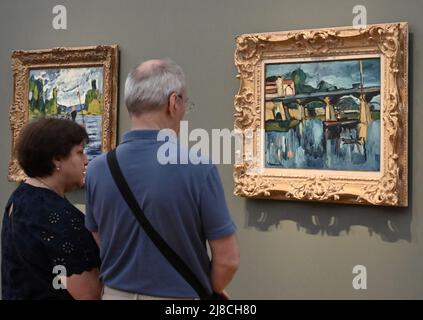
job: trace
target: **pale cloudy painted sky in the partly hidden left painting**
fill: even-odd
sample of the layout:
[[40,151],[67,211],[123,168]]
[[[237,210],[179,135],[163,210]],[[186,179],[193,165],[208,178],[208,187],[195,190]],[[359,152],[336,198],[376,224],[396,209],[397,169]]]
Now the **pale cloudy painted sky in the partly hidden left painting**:
[[30,77],[42,79],[45,96],[50,99],[52,90],[57,88],[57,102],[61,105],[78,105],[78,90],[81,102],[85,101],[85,94],[91,89],[91,80],[96,80],[97,89],[103,92],[103,68],[63,68],[31,70]]

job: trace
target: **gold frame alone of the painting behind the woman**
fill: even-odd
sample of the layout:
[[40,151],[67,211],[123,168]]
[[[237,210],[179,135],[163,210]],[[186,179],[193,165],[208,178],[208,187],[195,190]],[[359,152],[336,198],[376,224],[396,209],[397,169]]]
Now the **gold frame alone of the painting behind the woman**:
[[104,110],[102,123],[102,151],[116,146],[118,46],[54,48],[47,50],[13,51],[13,104],[10,107],[12,153],[9,181],[23,181],[26,176],[15,156],[17,138],[28,122],[29,72],[31,69],[93,67],[104,68]]

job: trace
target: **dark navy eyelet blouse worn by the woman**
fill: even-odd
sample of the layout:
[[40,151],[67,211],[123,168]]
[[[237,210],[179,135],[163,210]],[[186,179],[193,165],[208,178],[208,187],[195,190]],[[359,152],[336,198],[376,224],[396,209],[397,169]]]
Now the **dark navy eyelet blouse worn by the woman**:
[[3,299],[72,299],[57,276],[100,267],[83,213],[55,192],[26,183],[6,205],[1,243]]

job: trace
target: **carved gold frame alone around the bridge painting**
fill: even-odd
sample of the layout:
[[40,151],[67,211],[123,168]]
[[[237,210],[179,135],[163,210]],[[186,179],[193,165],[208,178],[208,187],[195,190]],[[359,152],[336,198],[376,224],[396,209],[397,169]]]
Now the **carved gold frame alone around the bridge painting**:
[[[328,28],[236,38],[235,131],[243,136],[234,168],[234,194],[335,203],[408,205],[408,24]],[[381,170],[357,172],[264,168],[263,79],[274,59],[381,57]]]

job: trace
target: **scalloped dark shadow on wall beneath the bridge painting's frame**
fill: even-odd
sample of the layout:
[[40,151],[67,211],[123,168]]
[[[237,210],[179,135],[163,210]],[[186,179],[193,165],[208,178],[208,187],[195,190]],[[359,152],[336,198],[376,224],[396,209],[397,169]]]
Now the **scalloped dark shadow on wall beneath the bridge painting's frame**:
[[411,241],[410,208],[351,206],[340,204],[300,203],[275,200],[246,200],[247,227],[260,231],[280,227],[293,221],[298,231],[308,234],[340,236],[349,234],[352,226],[368,228],[369,235],[382,240]]

